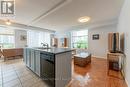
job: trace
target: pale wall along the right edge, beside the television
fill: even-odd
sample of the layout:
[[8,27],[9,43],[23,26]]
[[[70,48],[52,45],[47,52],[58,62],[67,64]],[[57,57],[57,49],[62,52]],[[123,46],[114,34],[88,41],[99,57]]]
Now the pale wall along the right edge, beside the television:
[[130,0],[124,1],[124,5],[119,16],[118,31],[120,33],[124,33],[125,35],[125,74],[128,87],[130,87]]

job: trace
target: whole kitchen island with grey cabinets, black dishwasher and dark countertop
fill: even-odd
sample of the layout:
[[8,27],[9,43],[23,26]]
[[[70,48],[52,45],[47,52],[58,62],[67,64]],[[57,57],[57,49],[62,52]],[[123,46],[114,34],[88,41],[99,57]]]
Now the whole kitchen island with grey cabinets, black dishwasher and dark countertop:
[[24,48],[24,62],[52,87],[65,87],[71,80],[71,51],[69,48]]

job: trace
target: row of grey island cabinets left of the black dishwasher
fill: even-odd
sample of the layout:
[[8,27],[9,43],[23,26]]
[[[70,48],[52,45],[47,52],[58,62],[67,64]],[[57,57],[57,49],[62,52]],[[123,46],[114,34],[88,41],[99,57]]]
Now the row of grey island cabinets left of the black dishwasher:
[[24,62],[28,68],[40,76],[40,51],[24,48]]

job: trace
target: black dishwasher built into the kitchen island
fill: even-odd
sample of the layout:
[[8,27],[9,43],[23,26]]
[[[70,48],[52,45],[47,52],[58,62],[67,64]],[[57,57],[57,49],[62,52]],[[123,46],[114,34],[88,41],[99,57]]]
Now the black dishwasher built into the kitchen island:
[[43,52],[40,54],[41,78],[50,81],[51,85],[55,84],[55,55]]

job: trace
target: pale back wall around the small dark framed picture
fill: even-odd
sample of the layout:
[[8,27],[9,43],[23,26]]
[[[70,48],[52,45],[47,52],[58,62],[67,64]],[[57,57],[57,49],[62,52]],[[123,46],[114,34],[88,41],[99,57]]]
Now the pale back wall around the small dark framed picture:
[[[88,30],[88,50],[92,53],[93,56],[98,58],[106,58],[108,51],[108,33],[116,31],[116,24],[101,26]],[[99,40],[92,40],[93,34],[99,34]]]

